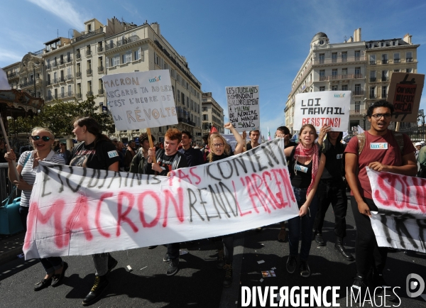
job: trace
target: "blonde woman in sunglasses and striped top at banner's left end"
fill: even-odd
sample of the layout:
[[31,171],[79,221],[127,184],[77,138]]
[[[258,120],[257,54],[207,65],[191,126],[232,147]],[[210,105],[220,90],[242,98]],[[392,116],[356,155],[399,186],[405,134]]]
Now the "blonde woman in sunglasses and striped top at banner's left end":
[[[16,169],[18,170],[20,178],[17,179],[16,173],[13,171],[16,161],[16,155],[13,150],[10,150],[4,155],[4,158],[6,158],[9,163],[9,180],[11,180],[18,189],[22,190],[19,214],[21,215],[21,221],[25,231],[27,229],[28,209],[30,207],[30,197],[33,191],[35,175],[37,174],[38,162],[43,160],[65,165],[65,160],[62,156],[55,154],[52,150],[53,142],[55,141],[55,135],[53,135],[52,131],[48,130],[48,128],[35,127],[33,131],[31,131],[30,138],[34,150],[23,152],[19,157]],[[34,291],[43,290],[50,285],[53,287],[60,285],[60,282],[65,276],[65,270],[68,268],[67,263],[63,262],[60,257],[40,258],[39,260],[45,269],[46,275],[43,280],[35,285]]]

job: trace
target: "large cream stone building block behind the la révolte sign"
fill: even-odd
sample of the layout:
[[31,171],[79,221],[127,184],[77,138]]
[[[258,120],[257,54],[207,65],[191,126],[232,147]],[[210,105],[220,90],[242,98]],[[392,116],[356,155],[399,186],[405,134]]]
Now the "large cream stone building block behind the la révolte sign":
[[[50,40],[43,50],[4,67],[13,89],[42,97],[46,104],[94,96],[99,112],[107,106],[103,75],[147,70],[169,70],[179,121],[175,127],[190,131],[193,141],[201,143],[201,83],[185,57],[161,35],[158,23],[137,26],[114,17],[104,25],[93,18],[84,23],[84,31],[72,31],[72,38]],[[151,128],[151,133],[163,141],[168,128]],[[127,142],[140,133],[117,131],[114,137]]]

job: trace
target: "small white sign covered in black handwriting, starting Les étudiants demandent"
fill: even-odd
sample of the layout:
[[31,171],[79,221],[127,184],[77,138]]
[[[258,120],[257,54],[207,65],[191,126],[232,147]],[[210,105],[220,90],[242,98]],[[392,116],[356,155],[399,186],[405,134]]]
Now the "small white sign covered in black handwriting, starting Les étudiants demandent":
[[259,86],[226,87],[229,122],[236,131],[259,131]]

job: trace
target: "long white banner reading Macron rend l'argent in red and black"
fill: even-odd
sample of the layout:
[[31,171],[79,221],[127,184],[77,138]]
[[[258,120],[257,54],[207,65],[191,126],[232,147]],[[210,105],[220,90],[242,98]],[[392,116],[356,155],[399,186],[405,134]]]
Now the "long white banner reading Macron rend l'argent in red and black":
[[275,139],[170,178],[40,162],[23,251],[89,255],[267,226],[298,215]]

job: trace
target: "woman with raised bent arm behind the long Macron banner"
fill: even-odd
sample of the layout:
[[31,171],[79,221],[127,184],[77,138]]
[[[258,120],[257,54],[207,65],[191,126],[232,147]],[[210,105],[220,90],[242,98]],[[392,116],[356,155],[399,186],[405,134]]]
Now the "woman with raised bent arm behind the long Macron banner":
[[[220,133],[212,133],[209,137],[209,148],[210,153],[207,155],[209,163],[217,160],[223,160],[229,158],[232,155],[238,155],[244,152],[244,140],[241,135],[236,131],[231,123],[226,123],[224,128],[229,129],[235,137],[237,145],[234,153],[231,152],[231,147],[226,143],[225,138]],[[220,239],[222,238],[222,243]],[[234,236],[232,234],[228,236],[222,236],[215,238],[217,243],[217,268],[223,268],[225,270],[224,287],[231,287],[232,283],[232,259],[234,256]],[[219,244],[220,243],[220,244]]]

